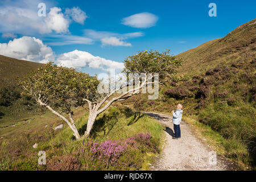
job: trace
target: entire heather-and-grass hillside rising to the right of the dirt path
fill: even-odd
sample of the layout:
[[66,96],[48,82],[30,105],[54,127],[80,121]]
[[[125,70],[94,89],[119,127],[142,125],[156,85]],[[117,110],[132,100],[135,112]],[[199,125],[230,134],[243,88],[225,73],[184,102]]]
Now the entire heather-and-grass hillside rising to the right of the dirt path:
[[184,76],[160,86],[158,100],[139,94],[122,103],[163,113],[181,103],[185,121],[209,137],[219,154],[238,169],[255,169],[255,22],[177,55],[184,60],[177,72]]

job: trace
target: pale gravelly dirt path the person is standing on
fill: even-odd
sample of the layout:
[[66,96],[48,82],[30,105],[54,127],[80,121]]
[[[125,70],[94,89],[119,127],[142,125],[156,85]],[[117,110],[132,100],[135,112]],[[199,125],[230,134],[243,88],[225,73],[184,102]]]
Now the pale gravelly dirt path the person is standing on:
[[181,121],[181,138],[172,139],[174,136],[171,115],[153,112],[142,112],[157,119],[166,127],[166,144],[162,154],[156,157],[149,170],[227,170],[225,160],[219,156],[214,158],[214,151],[196,136],[192,127]]

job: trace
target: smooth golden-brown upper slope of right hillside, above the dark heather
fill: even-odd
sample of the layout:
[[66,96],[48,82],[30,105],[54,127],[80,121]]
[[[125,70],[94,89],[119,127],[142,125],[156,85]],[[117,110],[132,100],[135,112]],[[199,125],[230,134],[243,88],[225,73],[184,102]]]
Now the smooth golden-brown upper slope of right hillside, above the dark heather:
[[177,55],[184,60],[179,73],[193,75],[205,73],[219,63],[229,63],[241,55],[255,54],[256,19],[251,20],[230,32],[224,38],[211,40],[199,47]]

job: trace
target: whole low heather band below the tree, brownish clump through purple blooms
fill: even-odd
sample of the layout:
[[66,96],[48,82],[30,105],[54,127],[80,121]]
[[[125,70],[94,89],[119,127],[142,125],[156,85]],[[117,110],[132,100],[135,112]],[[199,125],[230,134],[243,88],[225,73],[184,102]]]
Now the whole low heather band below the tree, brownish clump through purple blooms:
[[119,140],[77,143],[76,150],[64,151],[55,144],[48,152],[47,170],[138,170],[146,152],[156,153],[158,143],[150,133]]

